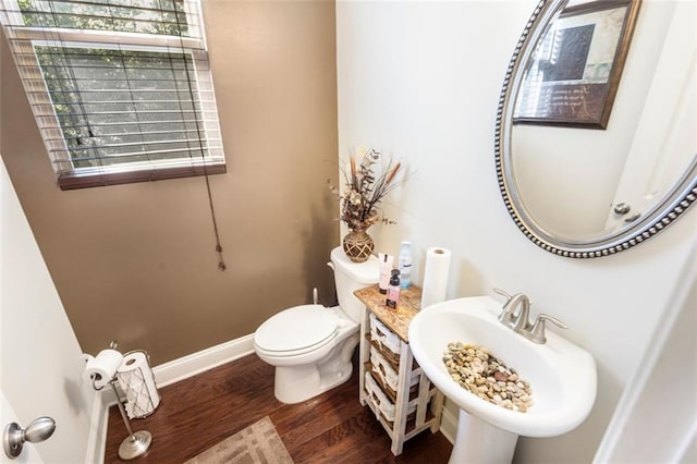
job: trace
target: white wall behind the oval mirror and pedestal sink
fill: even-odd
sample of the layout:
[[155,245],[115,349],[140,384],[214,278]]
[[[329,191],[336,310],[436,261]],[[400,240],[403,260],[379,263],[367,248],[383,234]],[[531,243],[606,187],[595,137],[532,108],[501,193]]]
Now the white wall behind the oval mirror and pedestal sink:
[[[415,281],[430,246],[452,251],[449,297],[526,292],[533,312],[565,321],[596,357],[589,418],[548,439],[523,438],[516,462],[592,460],[637,368],[697,233],[697,212],[640,246],[574,260],[541,251],[508,216],[493,163],[496,109],[513,48],[536,0],[340,1],[337,5],[340,156],[358,145],[401,158],[408,181],[374,227],[376,252],[415,248]],[[341,162],[343,164],[343,161]]]

